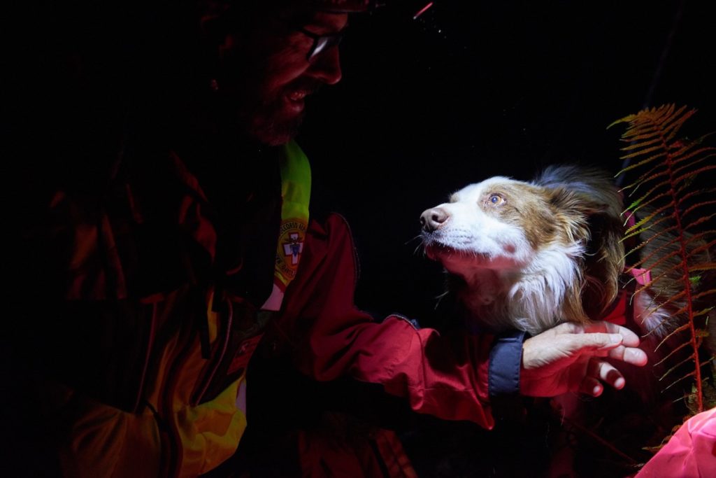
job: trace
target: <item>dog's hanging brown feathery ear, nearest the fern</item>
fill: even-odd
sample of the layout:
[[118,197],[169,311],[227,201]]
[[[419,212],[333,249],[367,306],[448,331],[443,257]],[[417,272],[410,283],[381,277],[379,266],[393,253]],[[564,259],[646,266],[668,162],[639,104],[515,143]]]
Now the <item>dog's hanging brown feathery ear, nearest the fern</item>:
[[569,230],[572,240],[585,247],[581,302],[584,313],[592,319],[601,317],[616,299],[624,270],[621,198],[614,186],[608,186],[592,193],[574,191],[569,186],[551,190],[558,221]]

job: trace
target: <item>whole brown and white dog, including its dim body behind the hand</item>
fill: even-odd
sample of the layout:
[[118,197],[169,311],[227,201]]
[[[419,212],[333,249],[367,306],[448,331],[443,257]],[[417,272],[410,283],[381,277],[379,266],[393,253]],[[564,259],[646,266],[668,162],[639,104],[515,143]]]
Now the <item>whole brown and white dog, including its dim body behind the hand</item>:
[[[658,377],[669,369],[662,363],[672,355],[669,350],[679,354],[687,350],[679,346],[681,337],[670,334],[684,322],[683,302],[664,303],[666,297],[678,297],[679,287],[683,289],[682,269],[674,267],[678,259],[668,254],[669,248],[677,247],[674,236],[661,234],[643,244],[643,239],[636,239],[637,244],[645,244],[642,257],[656,253],[642,267],[660,279],[657,290],[644,271],[625,270],[627,217],[622,211],[621,195],[604,171],[552,166],[530,182],[497,176],[471,184],[420,217],[427,257],[441,262],[448,272],[446,295],[454,300],[448,303],[457,305],[458,314],[472,322],[473,330],[525,330],[536,335],[560,322],[627,317],[621,325],[642,335],[641,347],[649,355],[645,368],[619,364],[629,393],[609,394],[608,400],[594,402],[568,393],[551,402],[561,419],[581,423],[581,429],[594,430],[609,410],[599,433],[613,439],[634,432],[624,424],[638,424],[637,429],[647,431],[654,424],[673,425],[654,415],[662,416],[669,409],[662,403],[671,406],[683,392],[673,388],[672,396],[664,396]],[[661,227],[668,229],[667,222]],[[690,249],[692,254],[711,254],[703,242],[690,242]],[[664,256],[667,259],[657,259]],[[697,259],[713,261],[712,256]],[[709,277],[704,285],[714,280]],[[632,297],[635,290],[640,292]],[[716,313],[712,315],[710,325],[716,324]],[[712,329],[710,336],[716,337],[716,327]],[[657,347],[667,337],[667,345]],[[679,363],[682,358],[672,355],[669,360]],[[634,403],[639,403],[644,418],[629,415]],[[620,413],[629,419],[620,420]],[[558,436],[556,442],[563,439]],[[569,457],[568,446],[555,449],[562,451],[553,457],[549,476],[563,476],[574,457]],[[639,451],[637,447],[634,452]]]

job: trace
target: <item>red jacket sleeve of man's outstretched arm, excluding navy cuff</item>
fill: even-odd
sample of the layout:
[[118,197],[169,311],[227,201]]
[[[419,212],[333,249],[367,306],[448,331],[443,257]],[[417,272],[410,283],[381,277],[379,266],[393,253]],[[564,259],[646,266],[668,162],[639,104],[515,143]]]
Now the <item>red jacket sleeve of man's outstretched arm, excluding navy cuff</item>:
[[319,381],[380,383],[413,410],[493,426],[488,404],[491,335],[445,337],[397,315],[375,322],[354,305],[356,261],[342,217],[311,223],[278,330],[299,369]]

